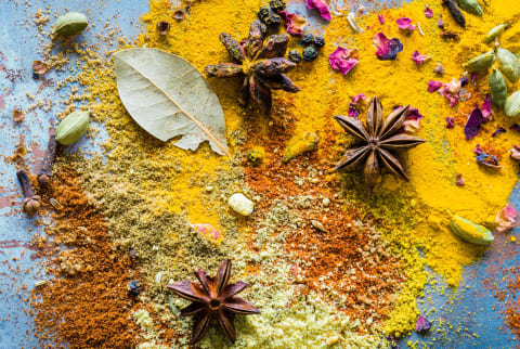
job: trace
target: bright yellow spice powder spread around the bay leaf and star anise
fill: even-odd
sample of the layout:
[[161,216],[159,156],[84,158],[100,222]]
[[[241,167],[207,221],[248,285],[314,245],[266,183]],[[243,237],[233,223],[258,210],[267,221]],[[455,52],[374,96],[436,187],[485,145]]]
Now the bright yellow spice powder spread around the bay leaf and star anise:
[[[478,79],[478,87],[470,87],[472,99],[454,108],[450,108],[447,101],[438,93],[430,94],[427,83],[430,79],[448,82],[452,77],[458,79],[464,69],[461,63],[473,55],[489,50],[482,43],[487,30],[494,25],[510,22],[514,27],[503,36],[503,46],[518,50],[518,17],[519,10],[510,9],[507,0],[491,0],[485,8],[482,18],[466,15],[468,27],[463,30],[456,26],[447,11],[434,3],[430,7],[435,17],[426,18],[424,9],[426,1],[414,1],[403,8],[385,10],[380,13],[386,23],[379,24],[376,14],[367,15],[360,22],[369,27],[364,34],[353,34],[346,16],[336,16],[325,28],[326,46],[321,50],[320,57],[313,63],[301,63],[289,76],[302,91],[291,98],[288,113],[298,116],[295,133],[303,131],[317,132],[328,130],[332,118],[336,114],[347,114],[351,98],[358,93],[365,93],[368,98],[378,95],[386,114],[395,105],[411,104],[419,108],[425,115],[421,128],[417,135],[428,142],[408,152],[405,165],[411,178],[410,183],[395,180],[391,176],[384,176],[382,182],[376,188],[375,198],[365,203],[373,210],[386,212],[388,237],[401,244],[400,254],[407,262],[408,282],[403,285],[400,297],[395,302],[395,310],[387,323],[386,329],[390,333],[402,334],[410,331],[417,315],[416,297],[420,296],[427,275],[424,262],[445,277],[450,285],[456,286],[461,277],[464,266],[472,262],[483,251],[482,247],[461,242],[447,229],[450,216],[459,215],[476,223],[490,225],[495,214],[505,206],[516,182],[516,165],[504,154],[500,172],[493,172],[479,167],[474,160],[473,148],[478,143],[493,143],[496,147],[508,150],[520,139],[514,132],[500,134],[491,139],[493,130],[499,126],[509,125],[502,112],[495,112],[495,119],[485,125],[480,135],[474,140],[466,141],[458,122],[455,129],[445,128],[444,118],[467,113],[467,105],[482,103],[487,91],[486,78]],[[154,47],[183,56],[200,70],[208,64],[231,62],[227,52],[218,39],[221,31],[227,31],[239,38],[247,35],[250,22],[256,17],[260,5],[265,1],[246,0],[236,3],[234,0],[203,1],[193,3],[190,15],[182,22],[173,23],[171,2],[152,0],[151,11],[142,20],[146,24],[145,33],[135,44]],[[460,36],[460,41],[444,41],[440,38],[437,27],[437,16],[443,14],[448,30]],[[420,22],[425,31],[421,36],[418,30],[406,36],[400,33],[395,20],[401,16],[411,17],[414,23]],[[159,37],[156,33],[156,23],[166,20],[172,23],[170,34]],[[372,47],[374,36],[382,31],[387,37],[398,37],[404,44],[403,52],[395,61],[379,61]],[[291,47],[296,47],[292,40]],[[336,46],[356,47],[361,53],[359,65],[347,76],[329,68],[327,56]],[[432,59],[421,66],[411,61],[415,50]],[[442,78],[433,74],[435,62],[442,62],[445,75]],[[109,70],[109,68],[107,68]],[[219,198],[208,198],[204,195],[205,189],[194,185],[194,182],[211,182],[218,170],[227,171],[230,164],[223,157],[213,155],[207,145],[200,151],[186,156],[186,152],[177,148],[172,142],[158,143],[144,134],[142,130],[126,115],[117,95],[115,80],[109,72],[100,74],[107,77],[101,83],[92,82],[92,75],[83,75],[84,85],[91,86],[91,99],[103,95],[103,104],[95,104],[94,117],[105,121],[119,132],[126,130],[140,152],[136,166],[150,166],[164,174],[161,181],[141,183],[150,195],[150,205],[157,212],[161,210],[186,212],[188,219],[196,222],[208,222],[218,227],[218,216],[214,208],[222,205]],[[81,78],[81,76],[80,76]],[[110,79],[112,78],[112,79]],[[224,109],[229,134],[240,129],[242,119],[247,113],[237,103],[239,81],[226,79],[209,80],[219,95]],[[510,90],[517,87],[509,85]],[[108,95],[113,95],[112,99]],[[276,98],[285,99],[284,92],[275,93]],[[109,101],[108,101],[108,100]],[[110,103],[107,103],[110,102]],[[466,105],[466,106],[460,106]],[[109,117],[107,117],[109,115]],[[265,120],[259,121],[264,126]],[[318,155],[342,151],[344,138],[336,125],[338,146],[333,150],[318,148]],[[262,131],[260,127],[257,131]],[[233,148],[233,139],[229,138]],[[261,144],[259,144],[261,146]],[[125,144],[112,151],[112,157],[130,156]],[[143,160],[146,160],[145,164]],[[333,167],[334,164],[330,164]],[[461,173],[466,184],[463,188],[455,185],[455,177]],[[328,180],[340,180],[336,173],[329,173]],[[194,181],[195,180],[195,181]],[[363,189],[360,190],[362,192]],[[186,193],[190,193],[188,196]],[[399,228],[399,230],[396,229]],[[417,249],[425,254],[425,259]]]

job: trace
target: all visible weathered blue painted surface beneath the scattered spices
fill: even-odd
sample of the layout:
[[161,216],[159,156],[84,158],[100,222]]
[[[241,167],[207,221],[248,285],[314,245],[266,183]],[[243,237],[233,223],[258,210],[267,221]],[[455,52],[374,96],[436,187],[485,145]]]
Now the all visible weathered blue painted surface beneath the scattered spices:
[[[120,27],[126,37],[136,35],[140,30],[138,18],[147,10],[146,0],[38,0],[31,1],[30,5],[22,4],[22,1],[16,5],[11,0],[0,0],[0,52],[3,54],[0,55],[0,154],[4,156],[14,153],[21,137],[28,148],[44,148],[48,130],[56,121],[54,113],[61,111],[60,105],[54,105],[49,113],[36,109],[26,114],[22,125],[14,125],[11,117],[13,108],[27,109],[32,103],[27,99],[26,92],[36,95],[37,100],[49,99],[54,102],[58,102],[63,96],[56,94],[52,88],[44,88],[38,93],[41,81],[31,78],[31,62],[40,59],[37,52],[40,40],[36,27],[31,23],[25,25],[24,18],[31,18],[36,10],[44,8],[47,3],[51,4],[53,13],[64,13],[66,9],[80,11],[96,23],[96,28],[90,26],[78,38],[79,41],[88,43],[96,42],[95,34],[102,33],[107,18],[112,18],[114,26]],[[307,10],[302,5],[295,7],[295,10],[307,16]],[[54,16],[51,16],[51,23],[53,20]],[[8,70],[1,72],[2,66]],[[6,78],[9,72],[20,73],[15,82]],[[61,80],[69,74],[75,73],[52,72],[47,77]],[[98,140],[103,137],[106,134],[102,133]],[[79,146],[96,151],[87,142],[80,142]],[[41,154],[38,154],[39,156],[35,156],[29,153],[26,156],[31,170],[36,169],[37,159],[41,157]],[[31,318],[26,313],[28,307],[23,301],[27,292],[22,287],[31,288],[36,280],[44,279],[37,264],[38,260],[30,258],[34,251],[28,245],[31,234],[40,234],[42,231],[39,225],[34,225],[34,219],[20,211],[21,190],[15,171],[13,164],[0,161],[0,186],[3,189],[0,192],[0,348],[37,346],[30,335]],[[6,205],[11,202],[15,204],[12,207]],[[511,203],[517,209],[520,208],[519,186],[511,194]],[[465,279],[468,288],[461,287],[456,294],[450,290],[442,294],[439,285],[434,288],[428,286],[428,296],[420,306],[421,310],[428,312],[435,308],[437,311],[429,318],[433,321],[434,328],[443,329],[440,333],[430,331],[426,336],[413,334],[410,338],[400,340],[400,344],[406,347],[408,340],[419,340],[430,348],[511,348],[519,345],[505,326],[503,302],[496,301],[487,286],[483,286],[494,282],[498,288],[505,287],[499,267],[514,266],[518,261],[515,247],[507,238],[500,240],[500,236],[497,236],[497,241],[482,260],[467,268]],[[453,329],[450,329],[450,325]],[[28,335],[26,331],[29,331]],[[473,336],[473,333],[479,337]]]

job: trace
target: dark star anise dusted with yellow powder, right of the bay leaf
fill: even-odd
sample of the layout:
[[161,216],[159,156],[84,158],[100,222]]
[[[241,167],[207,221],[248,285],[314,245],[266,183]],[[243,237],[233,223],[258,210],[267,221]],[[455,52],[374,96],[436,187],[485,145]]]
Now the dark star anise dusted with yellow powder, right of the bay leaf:
[[265,25],[256,20],[249,28],[247,40],[242,43],[222,33],[220,41],[239,64],[208,65],[204,72],[207,76],[219,78],[244,76],[244,103],[251,99],[263,111],[269,111],[272,103],[271,90],[296,93],[300,89],[284,74],[296,67],[295,63],[284,57],[289,36],[272,35],[264,41],[265,30]]

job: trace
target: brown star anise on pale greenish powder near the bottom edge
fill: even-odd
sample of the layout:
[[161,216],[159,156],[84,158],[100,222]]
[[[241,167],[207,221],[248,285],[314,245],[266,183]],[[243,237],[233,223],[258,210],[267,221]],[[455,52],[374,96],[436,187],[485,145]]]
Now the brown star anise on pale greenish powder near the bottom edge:
[[243,281],[229,284],[231,277],[231,260],[229,259],[220,264],[217,276],[208,276],[202,269],[195,272],[195,276],[200,282],[199,284],[186,280],[167,286],[178,296],[193,301],[181,310],[181,316],[195,315],[191,344],[195,344],[204,337],[212,320],[217,320],[225,335],[235,342],[234,314],[260,313],[249,301],[236,296],[249,284]]

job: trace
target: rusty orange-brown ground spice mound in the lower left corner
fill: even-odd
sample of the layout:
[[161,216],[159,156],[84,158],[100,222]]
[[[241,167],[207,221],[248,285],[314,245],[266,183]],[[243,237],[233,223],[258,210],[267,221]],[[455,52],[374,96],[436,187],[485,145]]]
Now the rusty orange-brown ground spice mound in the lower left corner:
[[136,300],[127,285],[139,273],[132,261],[113,249],[107,223],[89,205],[74,171],[54,176],[43,199],[51,197],[61,205],[51,215],[50,236],[34,242],[49,259],[51,279],[32,292],[36,335],[51,347],[133,347],[139,337],[130,314]]

